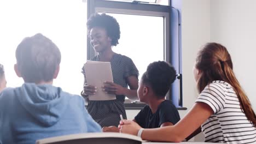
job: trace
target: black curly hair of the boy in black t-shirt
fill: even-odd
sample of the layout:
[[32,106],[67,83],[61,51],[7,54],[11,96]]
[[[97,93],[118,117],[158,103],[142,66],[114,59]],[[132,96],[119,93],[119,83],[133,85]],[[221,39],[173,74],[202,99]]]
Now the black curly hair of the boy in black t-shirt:
[[143,84],[152,87],[157,97],[164,98],[176,79],[176,70],[167,62],[153,62],[148,65],[141,79]]

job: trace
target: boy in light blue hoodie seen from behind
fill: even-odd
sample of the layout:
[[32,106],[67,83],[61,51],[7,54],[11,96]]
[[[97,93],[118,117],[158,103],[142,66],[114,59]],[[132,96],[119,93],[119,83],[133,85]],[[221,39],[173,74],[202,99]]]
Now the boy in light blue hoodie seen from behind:
[[52,85],[60,61],[60,50],[42,34],[18,45],[14,69],[25,83],[0,94],[0,143],[35,143],[46,137],[101,131],[82,97]]

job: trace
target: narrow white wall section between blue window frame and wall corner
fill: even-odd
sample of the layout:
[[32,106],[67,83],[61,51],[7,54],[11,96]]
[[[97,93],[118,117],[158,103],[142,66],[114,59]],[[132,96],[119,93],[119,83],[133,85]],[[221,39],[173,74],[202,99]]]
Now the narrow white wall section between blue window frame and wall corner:
[[[197,50],[210,41],[210,1],[183,0],[181,11],[183,106],[189,110],[197,97],[192,73]],[[179,113],[183,117],[188,110]]]

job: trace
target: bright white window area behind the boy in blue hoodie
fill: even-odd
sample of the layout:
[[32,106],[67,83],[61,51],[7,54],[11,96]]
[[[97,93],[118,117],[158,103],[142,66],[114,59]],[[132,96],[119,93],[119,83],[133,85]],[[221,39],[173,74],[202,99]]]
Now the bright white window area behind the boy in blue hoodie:
[[0,4],[0,63],[9,87],[22,85],[13,70],[15,50],[24,37],[42,33],[54,41],[62,55],[55,86],[80,94],[86,61],[86,3],[81,0],[22,0]]

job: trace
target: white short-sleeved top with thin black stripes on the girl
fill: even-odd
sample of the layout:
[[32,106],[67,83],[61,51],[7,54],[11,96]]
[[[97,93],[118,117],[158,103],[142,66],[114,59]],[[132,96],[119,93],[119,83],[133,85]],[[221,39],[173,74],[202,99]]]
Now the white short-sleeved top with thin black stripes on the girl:
[[256,143],[256,128],[241,110],[232,86],[213,81],[200,93],[196,102],[206,103],[214,111],[201,125],[206,142]]

